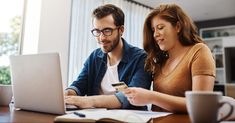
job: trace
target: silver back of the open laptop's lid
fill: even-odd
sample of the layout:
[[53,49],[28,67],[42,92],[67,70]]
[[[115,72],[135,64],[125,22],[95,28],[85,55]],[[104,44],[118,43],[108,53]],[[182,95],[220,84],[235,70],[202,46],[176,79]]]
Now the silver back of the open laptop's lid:
[[58,53],[10,56],[15,108],[65,114]]

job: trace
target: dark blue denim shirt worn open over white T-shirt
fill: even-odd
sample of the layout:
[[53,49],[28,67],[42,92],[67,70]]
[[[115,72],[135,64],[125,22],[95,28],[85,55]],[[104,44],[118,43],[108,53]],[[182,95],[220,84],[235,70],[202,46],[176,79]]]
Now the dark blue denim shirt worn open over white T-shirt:
[[[118,77],[120,81],[125,82],[129,87],[142,87],[150,89],[151,75],[144,71],[144,61],[146,53],[143,49],[133,47],[124,39],[123,57],[118,64]],[[67,89],[73,89],[77,95],[91,96],[99,95],[101,81],[107,70],[107,53],[98,48],[93,51],[86,60],[84,67],[77,79]],[[122,92],[115,93],[124,109],[146,109],[146,107],[137,107],[129,103]]]

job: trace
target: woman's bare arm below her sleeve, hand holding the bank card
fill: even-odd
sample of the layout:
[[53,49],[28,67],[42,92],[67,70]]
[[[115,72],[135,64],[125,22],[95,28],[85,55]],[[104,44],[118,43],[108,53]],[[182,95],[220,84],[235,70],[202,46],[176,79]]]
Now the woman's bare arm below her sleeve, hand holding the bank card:
[[[193,77],[193,91],[213,91],[215,78],[213,76],[197,75]],[[185,113],[186,99],[142,88],[129,88],[125,95],[133,105],[153,104],[174,113]]]

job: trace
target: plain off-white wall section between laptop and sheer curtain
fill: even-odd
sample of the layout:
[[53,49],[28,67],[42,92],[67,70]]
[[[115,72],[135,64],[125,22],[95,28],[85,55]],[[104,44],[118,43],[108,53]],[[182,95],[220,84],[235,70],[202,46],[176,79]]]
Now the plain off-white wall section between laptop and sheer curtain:
[[38,52],[59,52],[64,82],[68,73],[70,12],[71,0],[42,0]]

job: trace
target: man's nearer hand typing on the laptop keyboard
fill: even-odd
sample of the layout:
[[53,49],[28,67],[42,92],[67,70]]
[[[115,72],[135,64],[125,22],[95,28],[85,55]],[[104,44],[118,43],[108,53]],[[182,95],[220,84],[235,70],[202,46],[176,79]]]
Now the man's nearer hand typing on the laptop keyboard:
[[70,105],[76,105],[79,108],[92,108],[92,98],[82,96],[65,96],[65,103]]

